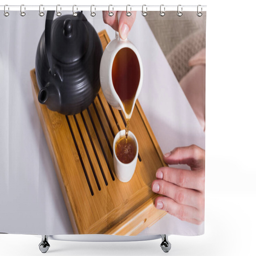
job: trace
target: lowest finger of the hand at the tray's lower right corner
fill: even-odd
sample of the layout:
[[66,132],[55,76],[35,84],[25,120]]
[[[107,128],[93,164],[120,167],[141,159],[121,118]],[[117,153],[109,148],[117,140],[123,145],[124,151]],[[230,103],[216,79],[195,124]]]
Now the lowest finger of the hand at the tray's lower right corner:
[[158,196],[155,200],[155,207],[164,210],[183,221],[188,221],[197,225],[204,221],[204,211],[197,210],[188,205],[178,204],[172,198]]

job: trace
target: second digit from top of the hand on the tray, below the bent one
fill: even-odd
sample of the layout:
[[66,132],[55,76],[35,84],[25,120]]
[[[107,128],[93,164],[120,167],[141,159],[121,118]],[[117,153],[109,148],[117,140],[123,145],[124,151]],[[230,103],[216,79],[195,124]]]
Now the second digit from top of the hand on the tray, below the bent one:
[[156,178],[171,182],[182,188],[204,190],[204,170],[190,171],[171,167],[161,167]]

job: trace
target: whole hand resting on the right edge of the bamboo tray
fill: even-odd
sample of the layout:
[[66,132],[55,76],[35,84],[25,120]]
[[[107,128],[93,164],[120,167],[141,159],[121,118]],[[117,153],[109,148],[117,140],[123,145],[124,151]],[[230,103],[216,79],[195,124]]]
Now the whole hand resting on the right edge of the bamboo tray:
[[166,164],[187,164],[190,170],[161,167],[152,190],[163,196],[155,200],[157,209],[194,224],[204,221],[205,151],[196,145],[174,148],[164,155]]

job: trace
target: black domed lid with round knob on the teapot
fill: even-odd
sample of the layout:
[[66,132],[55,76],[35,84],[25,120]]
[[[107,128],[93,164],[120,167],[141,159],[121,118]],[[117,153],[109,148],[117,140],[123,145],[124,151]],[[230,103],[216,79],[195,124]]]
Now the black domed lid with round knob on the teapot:
[[64,15],[52,25],[52,55],[61,63],[69,64],[82,58],[88,48],[88,30],[85,16]]

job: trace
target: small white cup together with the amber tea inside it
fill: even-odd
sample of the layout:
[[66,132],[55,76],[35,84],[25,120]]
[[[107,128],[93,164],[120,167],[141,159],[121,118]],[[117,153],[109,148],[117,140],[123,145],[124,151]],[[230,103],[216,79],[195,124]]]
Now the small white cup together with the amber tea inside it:
[[138,141],[131,131],[129,131],[127,139],[125,137],[125,130],[121,130],[116,134],[113,143],[113,159],[118,180],[128,182],[132,179],[138,153]]

